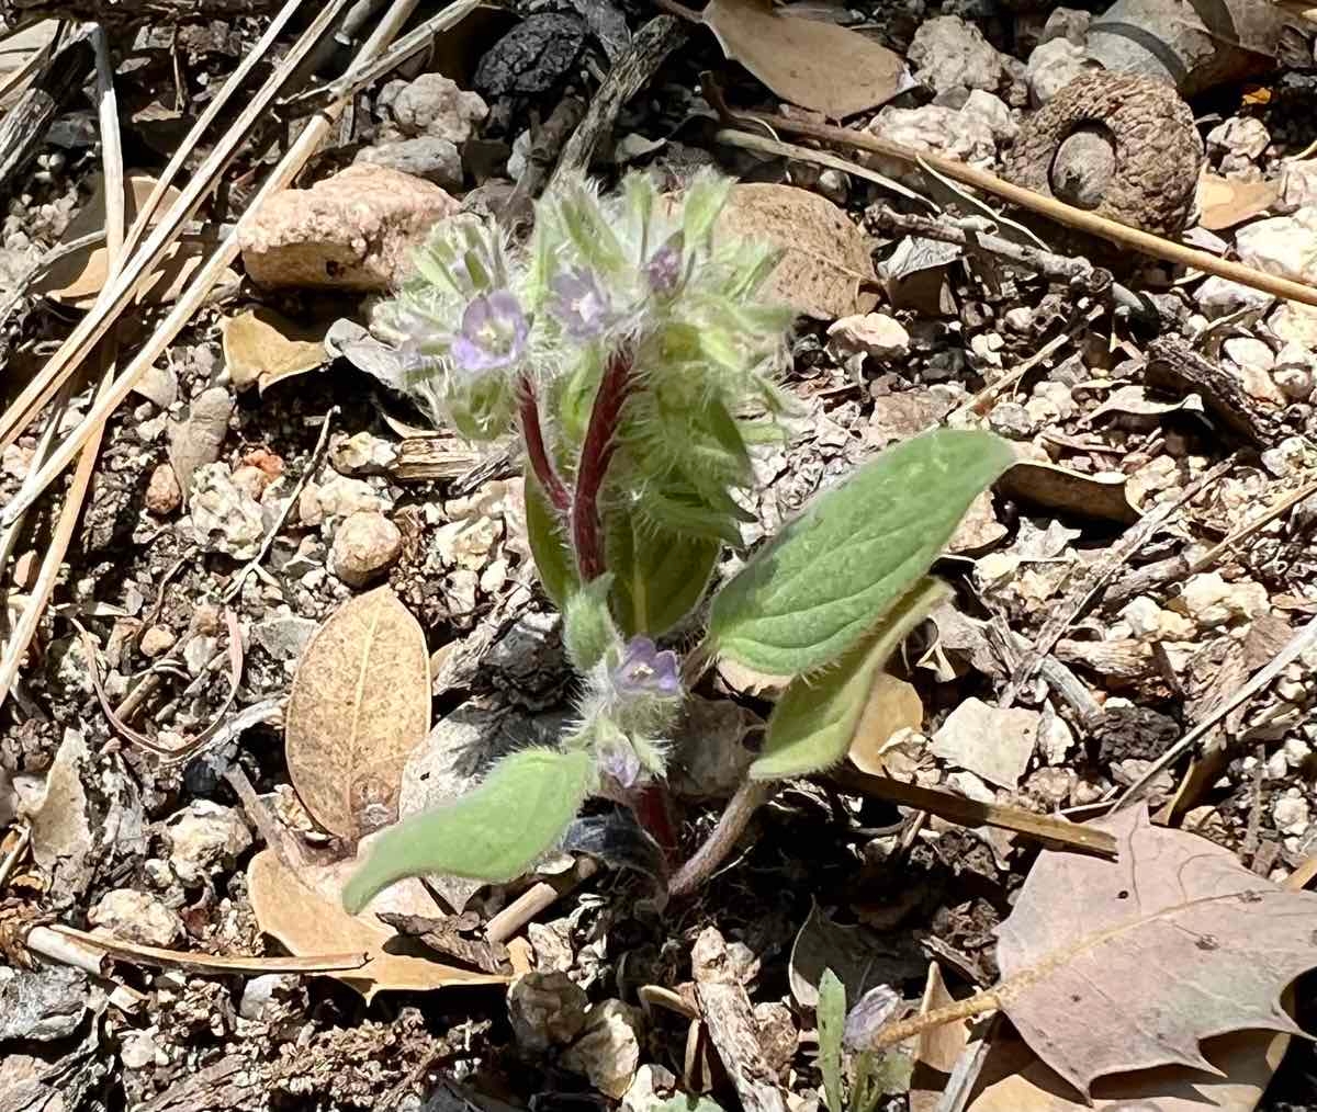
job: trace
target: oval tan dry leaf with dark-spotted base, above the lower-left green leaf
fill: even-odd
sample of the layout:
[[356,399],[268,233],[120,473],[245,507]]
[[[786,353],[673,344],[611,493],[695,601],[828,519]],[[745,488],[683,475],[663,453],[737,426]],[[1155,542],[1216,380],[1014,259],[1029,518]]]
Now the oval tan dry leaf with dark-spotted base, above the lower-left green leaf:
[[389,587],[344,603],[307,642],[284,715],[288,775],[327,830],[398,819],[403,766],[429,733],[429,654]]

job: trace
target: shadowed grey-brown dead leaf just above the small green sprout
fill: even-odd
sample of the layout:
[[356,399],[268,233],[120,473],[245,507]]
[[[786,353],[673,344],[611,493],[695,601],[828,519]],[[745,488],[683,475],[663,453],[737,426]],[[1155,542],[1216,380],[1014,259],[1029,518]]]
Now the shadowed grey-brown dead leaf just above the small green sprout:
[[913,938],[884,936],[867,926],[840,926],[814,904],[792,945],[788,967],[792,996],[802,1008],[818,1007],[818,986],[827,969],[846,986],[847,1000],[860,1000],[880,984],[919,976],[925,959]]

